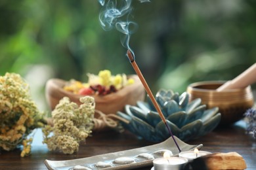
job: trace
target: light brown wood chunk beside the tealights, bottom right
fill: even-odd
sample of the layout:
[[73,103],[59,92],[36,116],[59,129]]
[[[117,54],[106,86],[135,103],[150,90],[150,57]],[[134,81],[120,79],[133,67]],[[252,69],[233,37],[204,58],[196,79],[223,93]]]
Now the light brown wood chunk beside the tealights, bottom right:
[[246,169],[244,158],[237,152],[215,153],[205,156],[209,170]]

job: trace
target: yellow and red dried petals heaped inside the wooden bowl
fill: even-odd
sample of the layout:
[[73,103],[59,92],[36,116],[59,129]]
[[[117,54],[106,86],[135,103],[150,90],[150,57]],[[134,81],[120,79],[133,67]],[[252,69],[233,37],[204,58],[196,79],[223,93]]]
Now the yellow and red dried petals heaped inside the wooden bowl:
[[64,86],[64,90],[80,95],[107,95],[135,82],[133,78],[127,78],[125,74],[114,76],[109,70],[100,71],[98,75],[87,74],[87,76],[89,77],[87,83],[70,80]]

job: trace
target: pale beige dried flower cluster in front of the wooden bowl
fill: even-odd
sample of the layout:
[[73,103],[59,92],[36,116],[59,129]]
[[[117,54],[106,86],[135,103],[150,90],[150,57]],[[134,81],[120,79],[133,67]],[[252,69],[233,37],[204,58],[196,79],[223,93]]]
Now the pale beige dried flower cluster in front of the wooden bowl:
[[80,98],[78,106],[68,97],[60,100],[52,112],[53,126],[43,129],[44,141],[49,150],[60,150],[64,154],[78,151],[79,142],[85,141],[93,129],[95,99],[90,96]]

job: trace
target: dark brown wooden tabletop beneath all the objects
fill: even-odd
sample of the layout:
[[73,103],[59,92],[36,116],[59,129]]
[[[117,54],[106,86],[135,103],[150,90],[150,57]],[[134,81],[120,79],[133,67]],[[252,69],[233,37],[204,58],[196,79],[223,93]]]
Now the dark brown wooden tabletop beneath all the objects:
[[[26,158],[20,157],[19,149],[10,152],[1,151],[0,169],[47,169],[44,164],[46,159],[71,160],[86,158],[154,144],[138,139],[129,131],[124,133],[105,131],[93,133],[92,137],[87,138],[86,144],[81,144],[79,152],[76,154],[65,155],[60,152],[49,152],[47,146],[42,144],[42,138],[41,130],[37,131],[32,144],[32,155]],[[256,169],[256,140],[245,135],[244,128],[240,127],[240,124],[239,126],[217,128],[199,139],[186,143],[203,144],[202,150],[209,152],[238,152],[244,157],[247,169]],[[151,169],[151,167],[144,167],[143,169]]]

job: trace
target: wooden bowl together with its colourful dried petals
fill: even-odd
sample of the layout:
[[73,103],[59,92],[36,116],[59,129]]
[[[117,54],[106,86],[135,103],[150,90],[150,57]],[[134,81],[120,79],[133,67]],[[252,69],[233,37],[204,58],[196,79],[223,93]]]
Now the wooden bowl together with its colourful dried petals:
[[95,98],[95,109],[104,114],[116,114],[125,105],[136,105],[144,100],[145,90],[137,75],[112,75],[109,70],[99,71],[98,75],[87,74],[88,81],[62,80],[51,78],[47,81],[45,95],[53,110],[63,97],[69,97],[80,105],[80,97],[90,95]]

